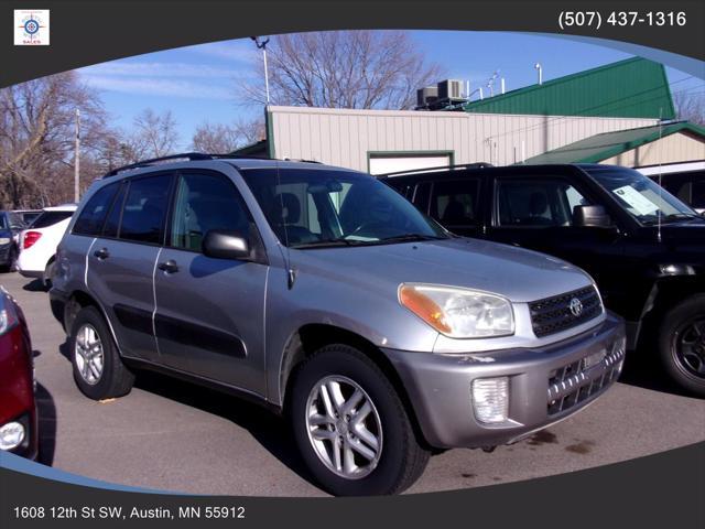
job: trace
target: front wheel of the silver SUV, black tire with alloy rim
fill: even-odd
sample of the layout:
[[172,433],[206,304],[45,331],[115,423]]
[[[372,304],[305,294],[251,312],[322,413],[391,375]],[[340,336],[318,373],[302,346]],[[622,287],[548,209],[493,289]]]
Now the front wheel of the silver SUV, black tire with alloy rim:
[[[325,406],[324,393],[333,397],[329,407]],[[411,419],[387,376],[358,349],[328,345],[316,352],[295,374],[290,402],[290,420],[299,450],[327,493],[335,496],[397,494],[423,474],[430,452],[416,440]],[[346,403],[350,406],[347,413]],[[312,424],[310,415],[318,421]],[[336,471],[333,447],[339,440],[347,454],[352,454],[354,464],[340,463]],[[351,449],[354,444],[357,449]],[[338,453],[337,461],[346,461],[346,451]]]

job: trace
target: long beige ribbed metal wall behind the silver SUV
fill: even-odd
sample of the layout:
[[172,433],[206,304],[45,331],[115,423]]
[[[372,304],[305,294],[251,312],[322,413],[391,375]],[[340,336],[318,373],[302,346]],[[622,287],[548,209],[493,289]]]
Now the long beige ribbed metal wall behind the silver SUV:
[[[368,152],[453,151],[456,164],[511,164],[654,119],[270,107],[276,158],[367,171]],[[271,138],[270,138],[271,139]],[[523,148],[522,148],[523,144]]]

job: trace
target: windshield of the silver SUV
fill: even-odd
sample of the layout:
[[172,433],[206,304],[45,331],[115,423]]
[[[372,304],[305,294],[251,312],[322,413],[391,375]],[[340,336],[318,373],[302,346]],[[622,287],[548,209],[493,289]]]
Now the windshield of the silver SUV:
[[447,238],[438,224],[371,176],[326,170],[246,170],[279,240],[291,248]]

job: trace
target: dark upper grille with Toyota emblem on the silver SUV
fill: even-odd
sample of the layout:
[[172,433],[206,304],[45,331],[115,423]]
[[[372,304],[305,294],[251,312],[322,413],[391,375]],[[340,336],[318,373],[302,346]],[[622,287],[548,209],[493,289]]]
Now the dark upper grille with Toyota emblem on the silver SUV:
[[560,333],[585,323],[603,313],[595,287],[529,303],[531,325],[538,337]]

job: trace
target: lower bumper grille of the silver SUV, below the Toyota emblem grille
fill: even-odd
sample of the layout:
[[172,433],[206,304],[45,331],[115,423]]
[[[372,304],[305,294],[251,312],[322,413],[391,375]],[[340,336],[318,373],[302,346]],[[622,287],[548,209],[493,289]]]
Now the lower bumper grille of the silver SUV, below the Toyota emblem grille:
[[549,374],[549,415],[556,415],[579,404],[617,380],[625,359],[626,341],[609,350],[594,353]]

